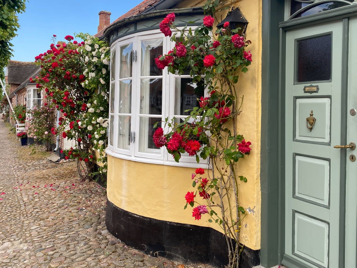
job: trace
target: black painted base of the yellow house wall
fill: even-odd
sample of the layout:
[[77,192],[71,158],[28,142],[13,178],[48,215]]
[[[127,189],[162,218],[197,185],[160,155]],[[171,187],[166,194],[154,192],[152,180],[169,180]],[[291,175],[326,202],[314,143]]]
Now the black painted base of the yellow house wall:
[[[116,207],[107,200],[108,231],[121,241],[148,254],[181,262],[202,262],[223,267],[228,250],[222,233],[209,227],[143,217]],[[260,250],[245,247],[240,268],[260,264]]]

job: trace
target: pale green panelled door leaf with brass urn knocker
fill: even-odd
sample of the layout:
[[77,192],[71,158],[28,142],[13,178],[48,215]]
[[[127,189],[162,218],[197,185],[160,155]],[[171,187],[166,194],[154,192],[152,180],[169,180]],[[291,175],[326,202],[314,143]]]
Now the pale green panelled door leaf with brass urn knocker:
[[342,30],[339,20],[286,32],[282,263],[289,268],[340,267],[341,150],[353,152],[333,148],[341,144],[341,109],[347,109],[341,107]]

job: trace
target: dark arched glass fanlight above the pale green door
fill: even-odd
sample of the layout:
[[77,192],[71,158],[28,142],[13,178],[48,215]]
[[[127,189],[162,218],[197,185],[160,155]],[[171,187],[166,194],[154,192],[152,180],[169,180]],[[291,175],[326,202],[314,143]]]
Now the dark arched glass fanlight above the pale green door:
[[356,0],[291,0],[289,20],[356,3]]

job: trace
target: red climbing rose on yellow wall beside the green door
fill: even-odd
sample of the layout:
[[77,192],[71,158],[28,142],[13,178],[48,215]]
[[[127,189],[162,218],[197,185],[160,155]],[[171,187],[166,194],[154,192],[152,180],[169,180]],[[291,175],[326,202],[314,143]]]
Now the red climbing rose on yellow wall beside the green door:
[[221,1],[207,1],[203,24],[194,31],[187,26],[178,29],[174,13],[160,23],[161,32],[171,36],[176,45],[155,59],[157,67],[167,67],[168,72],[179,75],[189,70],[193,83],[203,80],[207,95],[197,99],[199,107],[185,111],[190,116],[182,123],[166,118],[166,134],[164,129],[157,128],[153,141],[157,147],[165,147],[176,162],[184,153],[195,156],[197,163],[200,158],[209,159],[208,174],[202,168],[192,173],[196,190],[186,193],[185,209],[187,205],[194,207],[195,220],[207,214],[208,222],[220,225],[226,236],[229,265],[238,267],[243,249],[239,243],[240,229],[246,215],[238,198],[238,180],[247,182],[247,178],[237,175],[236,163],[251,152],[251,142],[238,133],[236,117],[241,113],[243,96],[236,84],[240,73],[245,73],[251,64],[252,55],[245,50],[251,41],[238,34],[240,29],[231,30],[229,23],[212,33],[214,12],[219,5]]

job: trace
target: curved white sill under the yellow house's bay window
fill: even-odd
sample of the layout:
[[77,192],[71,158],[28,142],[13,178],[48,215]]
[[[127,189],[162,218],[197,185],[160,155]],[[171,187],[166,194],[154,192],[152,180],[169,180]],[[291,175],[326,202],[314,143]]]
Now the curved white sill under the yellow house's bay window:
[[208,164],[201,164],[201,163],[188,163],[188,162],[175,162],[175,161],[165,161],[165,160],[158,160],[158,159],[151,159],[151,158],[143,158],[143,157],[133,157],[130,155],[119,154],[113,152],[110,148],[106,148],[106,154],[120,159],[125,159],[129,161],[141,162],[141,163],[148,163],[148,164],[157,164],[157,165],[167,165],[167,166],[174,166],[174,167],[186,167],[186,168],[204,168],[208,169]]

